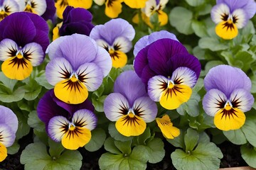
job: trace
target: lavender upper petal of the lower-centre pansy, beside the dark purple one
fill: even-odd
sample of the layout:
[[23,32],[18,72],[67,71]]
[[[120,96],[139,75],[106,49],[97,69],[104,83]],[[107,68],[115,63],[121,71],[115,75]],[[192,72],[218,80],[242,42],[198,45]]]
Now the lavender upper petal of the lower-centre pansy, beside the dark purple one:
[[129,105],[142,96],[147,96],[145,85],[137,74],[132,71],[122,72],[114,82],[114,92],[122,94],[127,98]]

